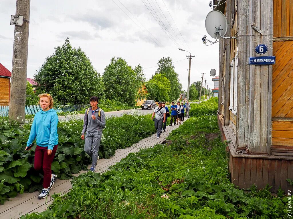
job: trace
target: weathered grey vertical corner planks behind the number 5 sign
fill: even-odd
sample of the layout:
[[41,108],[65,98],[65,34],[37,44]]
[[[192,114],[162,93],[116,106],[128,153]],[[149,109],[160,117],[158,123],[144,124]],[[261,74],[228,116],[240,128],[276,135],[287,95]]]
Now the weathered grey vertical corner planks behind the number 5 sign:
[[[272,0],[243,0],[238,2],[238,108],[237,108],[237,147],[247,147],[249,152],[268,153],[268,136],[271,121],[269,84],[271,70],[268,65],[248,65],[249,56],[260,56],[254,48],[266,44],[272,48],[270,34]],[[260,34],[251,24],[261,28]]]

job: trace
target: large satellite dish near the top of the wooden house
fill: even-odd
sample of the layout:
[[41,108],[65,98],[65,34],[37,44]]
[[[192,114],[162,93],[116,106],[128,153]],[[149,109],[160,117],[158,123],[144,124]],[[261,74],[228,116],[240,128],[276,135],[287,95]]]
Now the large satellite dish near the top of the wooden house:
[[205,18],[205,28],[207,29],[207,33],[214,39],[220,38],[219,26],[221,26],[222,29],[221,35],[225,36],[228,27],[225,15],[221,11],[210,11]]

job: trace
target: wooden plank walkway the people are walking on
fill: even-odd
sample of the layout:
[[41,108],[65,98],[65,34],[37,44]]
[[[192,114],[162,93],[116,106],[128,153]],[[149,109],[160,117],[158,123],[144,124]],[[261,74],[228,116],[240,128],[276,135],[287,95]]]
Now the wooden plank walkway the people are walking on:
[[[186,118],[187,119],[187,118]],[[186,121],[185,119],[185,121]],[[138,143],[128,147],[126,149],[118,149],[115,151],[115,156],[109,159],[99,159],[96,167],[96,173],[104,173],[108,170],[109,166],[113,166],[119,162],[122,158],[125,158],[131,152],[138,152],[140,149],[153,147],[156,144],[163,143],[169,133],[178,126],[166,127],[166,132],[162,132],[159,139],[156,138],[156,134],[151,135],[148,138],[140,140]],[[90,167],[90,165],[89,165]],[[81,171],[78,174],[85,173]],[[50,194],[54,193],[67,193],[71,189],[70,180],[59,180],[57,179],[54,183],[53,188],[50,190]],[[51,195],[47,199],[38,199],[39,192],[18,194],[15,198],[6,201],[4,205],[0,206],[0,219],[18,219],[21,215],[33,212],[42,212],[52,203]]]

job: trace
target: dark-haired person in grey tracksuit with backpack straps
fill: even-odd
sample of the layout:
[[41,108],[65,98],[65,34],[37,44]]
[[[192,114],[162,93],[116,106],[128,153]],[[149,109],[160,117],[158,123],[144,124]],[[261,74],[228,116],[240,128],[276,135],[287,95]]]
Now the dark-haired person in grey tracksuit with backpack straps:
[[90,169],[92,172],[95,172],[97,166],[100,141],[103,128],[105,128],[106,125],[105,113],[98,107],[98,101],[96,96],[91,97],[91,107],[86,109],[84,113],[84,126],[81,132],[81,139],[84,140],[84,151],[92,157]]

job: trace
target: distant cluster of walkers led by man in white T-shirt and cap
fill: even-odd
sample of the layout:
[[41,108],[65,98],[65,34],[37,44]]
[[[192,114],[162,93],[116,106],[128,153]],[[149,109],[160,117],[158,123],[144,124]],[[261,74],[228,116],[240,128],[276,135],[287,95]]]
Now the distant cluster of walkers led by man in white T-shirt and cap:
[[[172,105],[170,107],[170,110],[168,107],[165,106],[165,102],[158,102],[159,106],[157,106],[154,109],[154,112],[152,114],[152,119],[155,122],[155,128],[157,130],[157,138],[160,138],[160,135],[162,131],[166,131],[166,123],[167,118],[171,116],[170,125],[173,124],[174,119],[174,126],[181,125],[181,122],[184,121],[185,113],[186,118],[189,117],[189,111],[190,111],[190,104],[188,101],[184,104],[182,101],[180,104],[180,101],[177,102],[177,105],[175,105],[175,102],[172,102]],[[171,113],[170,113],[171,111]]]

